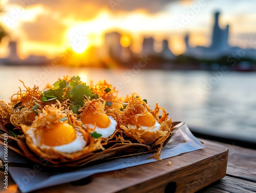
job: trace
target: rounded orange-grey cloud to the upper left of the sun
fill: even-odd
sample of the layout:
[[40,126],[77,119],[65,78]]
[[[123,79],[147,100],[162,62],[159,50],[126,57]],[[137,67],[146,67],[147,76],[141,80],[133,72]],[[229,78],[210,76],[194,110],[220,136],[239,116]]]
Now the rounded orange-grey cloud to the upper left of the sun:
[[32,41],[59,45],[63,41],[63,31],[67,30],[67,27],[51,15],[39,15],[33,23],[23,23],[22,30]]

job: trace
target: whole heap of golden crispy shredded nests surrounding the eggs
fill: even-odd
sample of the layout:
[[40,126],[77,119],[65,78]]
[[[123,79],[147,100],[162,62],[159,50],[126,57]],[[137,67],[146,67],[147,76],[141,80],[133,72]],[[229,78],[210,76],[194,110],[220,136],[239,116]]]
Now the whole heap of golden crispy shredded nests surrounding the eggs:
[[[67,76],[64,79],[69,81],[71,77]],[[138,152],[141,147],[146,149],[146,152],[157,151],[154,157],[159,159],[164,142],[172,134],[170,131],[172,120],[167,120],[167,113],[163,108],[159,108],[157,103],[155,110],[151,110],[146,102],[135,93],[125,100],[118,98],[116,89],[105,80],[91,86],[93,93],[97,94],[99,99],[84,99],[84,106],[78,111],[80,115],[70,111],[69,100],[44,102],[41,101],[41,91],[38,87],[29,88],[25,85],[24,87],[26,90],[19,89],[19,92],[11,97],[9,103],[0,101],[0,132],[9,132],[10,134],[10,131],[4,125],[12,124],[15,129],[18,129],[24,135],[18,135],[16,138],[9,135],[9,139],[12,140],[12,143],[9,143],[9,148],[41,165],[45,164],[45,161],[42,160],[46,160],[47,166],[50,167],[81,166],[95,160],[117,156],[120,152],[126,155],[133,154]],[[48,85],[48,88],[51,88],[51,86]],[[110,89],[110,91],[106,92],[106,89]],[[125,101],[128,104],[124,110],[120,110],[108,108],[106,101],[121,104]],[[35,106],[36,109],[33,110]],[[152,113],[161,124],[159,131],[153,133],[140,130],[139,124],[136,124],[134,129],[127,124],[132,116],[136,119],[136,117],[141,116],[141,113],[138,112],[145,111]],[[159,118],[160,111],[162,111],[161,118]],[[108,139],[93,138],[90,135],[93,130],[77,121],[77,118],[81,115],[87,114],[90,116],[92,113],[106,113],[117,121],[116,131]],[[41,149],[33,143],[33,140],[27,134],[27,131],[32,128],[50,129],[52,123],[57,123],[65,117],[68,118],[67,122],[82,133],[84,140],[87,141],[87,145],[82,151],[67,154],[57,152],[53,148]],[[37,129],[35,129],[35,132],[38,132]],[[23,138],[26,141],[20,140]],[[1,138],[0,143],[3,144]]]

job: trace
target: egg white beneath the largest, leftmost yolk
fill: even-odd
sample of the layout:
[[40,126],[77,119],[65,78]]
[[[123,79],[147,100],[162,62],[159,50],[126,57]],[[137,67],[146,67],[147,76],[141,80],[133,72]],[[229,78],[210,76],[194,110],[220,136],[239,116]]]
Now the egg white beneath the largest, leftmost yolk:
[[27,131],[27,134],[29,137],[32,138],[33,143],[39,147],[40,149],[50,149],[53,148],[58,152],[61,153],[73,153],[73,152],[77,152],[83,149],[83,147],[86,146],[86,141],[83,139],[83,135],[76,131],[76,139],[74,141],[72,141],[71,143],[65,144],[65,145],[58,145],[58,146],[48,146],[45,144],[40,144],[40,136],[34,134],[34,131],[36,130],[36,128],[32,128],[31,130]]

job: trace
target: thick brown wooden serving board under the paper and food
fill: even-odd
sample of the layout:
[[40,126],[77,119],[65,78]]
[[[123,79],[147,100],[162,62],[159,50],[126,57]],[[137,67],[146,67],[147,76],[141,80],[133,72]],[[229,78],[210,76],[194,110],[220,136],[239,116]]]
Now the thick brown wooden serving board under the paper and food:
[[226,174],[227,147],[209,141],[204,144],[198,151],[36,192],[196,192]]

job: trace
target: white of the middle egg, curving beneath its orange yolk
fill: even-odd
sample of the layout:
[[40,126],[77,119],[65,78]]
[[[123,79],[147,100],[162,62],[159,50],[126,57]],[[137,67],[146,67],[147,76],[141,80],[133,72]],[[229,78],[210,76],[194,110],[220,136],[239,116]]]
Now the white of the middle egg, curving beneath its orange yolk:
[[[101,137],[108,138],[116,131],[117,122],[112,116],[108,116],[110,119],[110,125],[105,128],[95,127],[95,132],[101,134]],[[80,121],[80,119],[77,119]],[[89,128],[94,128],[94,124],[87,124]]]

